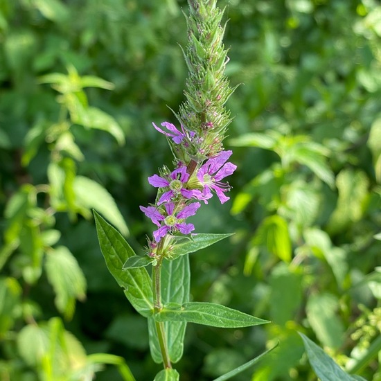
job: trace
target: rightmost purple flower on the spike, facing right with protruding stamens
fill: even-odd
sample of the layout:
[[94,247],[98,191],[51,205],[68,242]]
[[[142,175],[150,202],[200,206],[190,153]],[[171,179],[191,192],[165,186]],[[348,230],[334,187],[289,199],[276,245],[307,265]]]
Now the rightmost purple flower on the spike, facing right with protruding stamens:
[[233,163],[226,162],[231,154],[231,151],[220,152],[217,156],[206,161],[197,172],[197,179],[204,186],[202,200],[204,200],[205,204],[208,203],[206,200],[212,197],[211,190],[215,191],[221,204],[229,200],[230,197],[224,195],[224,192],[228,192],[230,186],[228,183],[223,183],[220,180],[231,175],[237,168]]

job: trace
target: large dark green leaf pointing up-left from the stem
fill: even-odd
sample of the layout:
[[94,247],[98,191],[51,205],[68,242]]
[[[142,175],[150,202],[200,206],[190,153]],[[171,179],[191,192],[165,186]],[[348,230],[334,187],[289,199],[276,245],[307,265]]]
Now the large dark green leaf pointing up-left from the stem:
[[118,285],[124,288],[125,296],[136,311],[143,317],[151,316],[154,309],[152,281],[147,270],[144,267],[123,270],[123,264],[126,260],[136,255],[134,250],[121,236],[121,233],[96,211],[94,211],[94,219],[100,250],[105,257],[109,272],[114,276]]

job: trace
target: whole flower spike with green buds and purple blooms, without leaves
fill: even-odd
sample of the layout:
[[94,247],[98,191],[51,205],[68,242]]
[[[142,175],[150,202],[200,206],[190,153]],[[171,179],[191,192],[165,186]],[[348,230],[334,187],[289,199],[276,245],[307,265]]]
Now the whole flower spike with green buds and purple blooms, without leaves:
[[[174,235],[190,234],[194,225],[186,218],[195,215],[200,201],[205,204],[215,193],[223,204],[230,190],[222,179],[236,166],[227,160],[231,151],[224,151],[227,126],[231,122],[224,107],[233,89],[224,75],[228,62],[222,45],[224,28],[220,25],[223,11],[216,0],[189,0],[187,17],[188,45],[184,52],[189,76],[185,102],[175,114],[180,128],[168,122],[154,128],[165,135],[175,156],[175,170],[164,167],[159,175],[148,177],[158,188],[155,204],[140,206],[141,211],[157,225],[154,240],[148,240],[148,255],[170,255],[168,247]],[[160,247],[160,254],[159,254]],[[167,250],[166,250],[167,248]]]

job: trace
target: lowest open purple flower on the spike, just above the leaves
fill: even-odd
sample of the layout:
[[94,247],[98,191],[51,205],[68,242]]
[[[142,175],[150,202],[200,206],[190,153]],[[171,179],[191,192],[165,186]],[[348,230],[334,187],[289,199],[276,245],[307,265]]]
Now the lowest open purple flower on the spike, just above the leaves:
[[195,215],[197,209],[201,206],[200,202],[193,202],[193,204],[185,206],[177,215],[175,215],[175,204],[173,202],[168,202],[164,206],[166,208],[166,215],[162,215],[154,206],[146,208],[140,206],[140,210],[159,227],[153,233],[156,242],[159,242],[163,236],[166,236],[168,232],[173,230],[178,230],[183,234],[189,234],[195,230],[193,224],[186,224],[184,220],[190,217],[190,215]]

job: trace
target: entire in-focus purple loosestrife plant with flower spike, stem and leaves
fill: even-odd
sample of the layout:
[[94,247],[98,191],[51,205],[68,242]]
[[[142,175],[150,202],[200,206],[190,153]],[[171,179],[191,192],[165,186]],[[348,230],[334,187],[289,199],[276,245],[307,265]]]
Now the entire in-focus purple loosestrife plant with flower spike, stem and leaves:
[[[233,89],[224,75],[229,59],[222,44],[223,11],[216,3],[188,0],[188,45],[183,53],[189,74],[186,100],[175,113],[180,127],[164,122],[162,129],[153,123],[168,139],[174,169],[164,166],[159,175],[148,177],[157,188],[157,197],[154,204],[140,209],[157,229],[153,239],[148,238],[145,255],[136,255],[121,234],[94,211],[107,267],[136,311],[148,319],[151,355],[163,365],[155,381],[179,380],[172,364],[182,357],[186,324],[238,328],[267,323],[224,305],[189,301],[188,254],[231,236],[199,233],[187,222],[200,208],[200,201],[207,204],[213,193],[222,204],[229,200],[230,186],[224,179],[236,170],[228,161],[232,152],[222,145],[231,122],[224,104]],[[146,266],[152,266],[151,274]],[[228,380],[258,358],[218,380]]]

